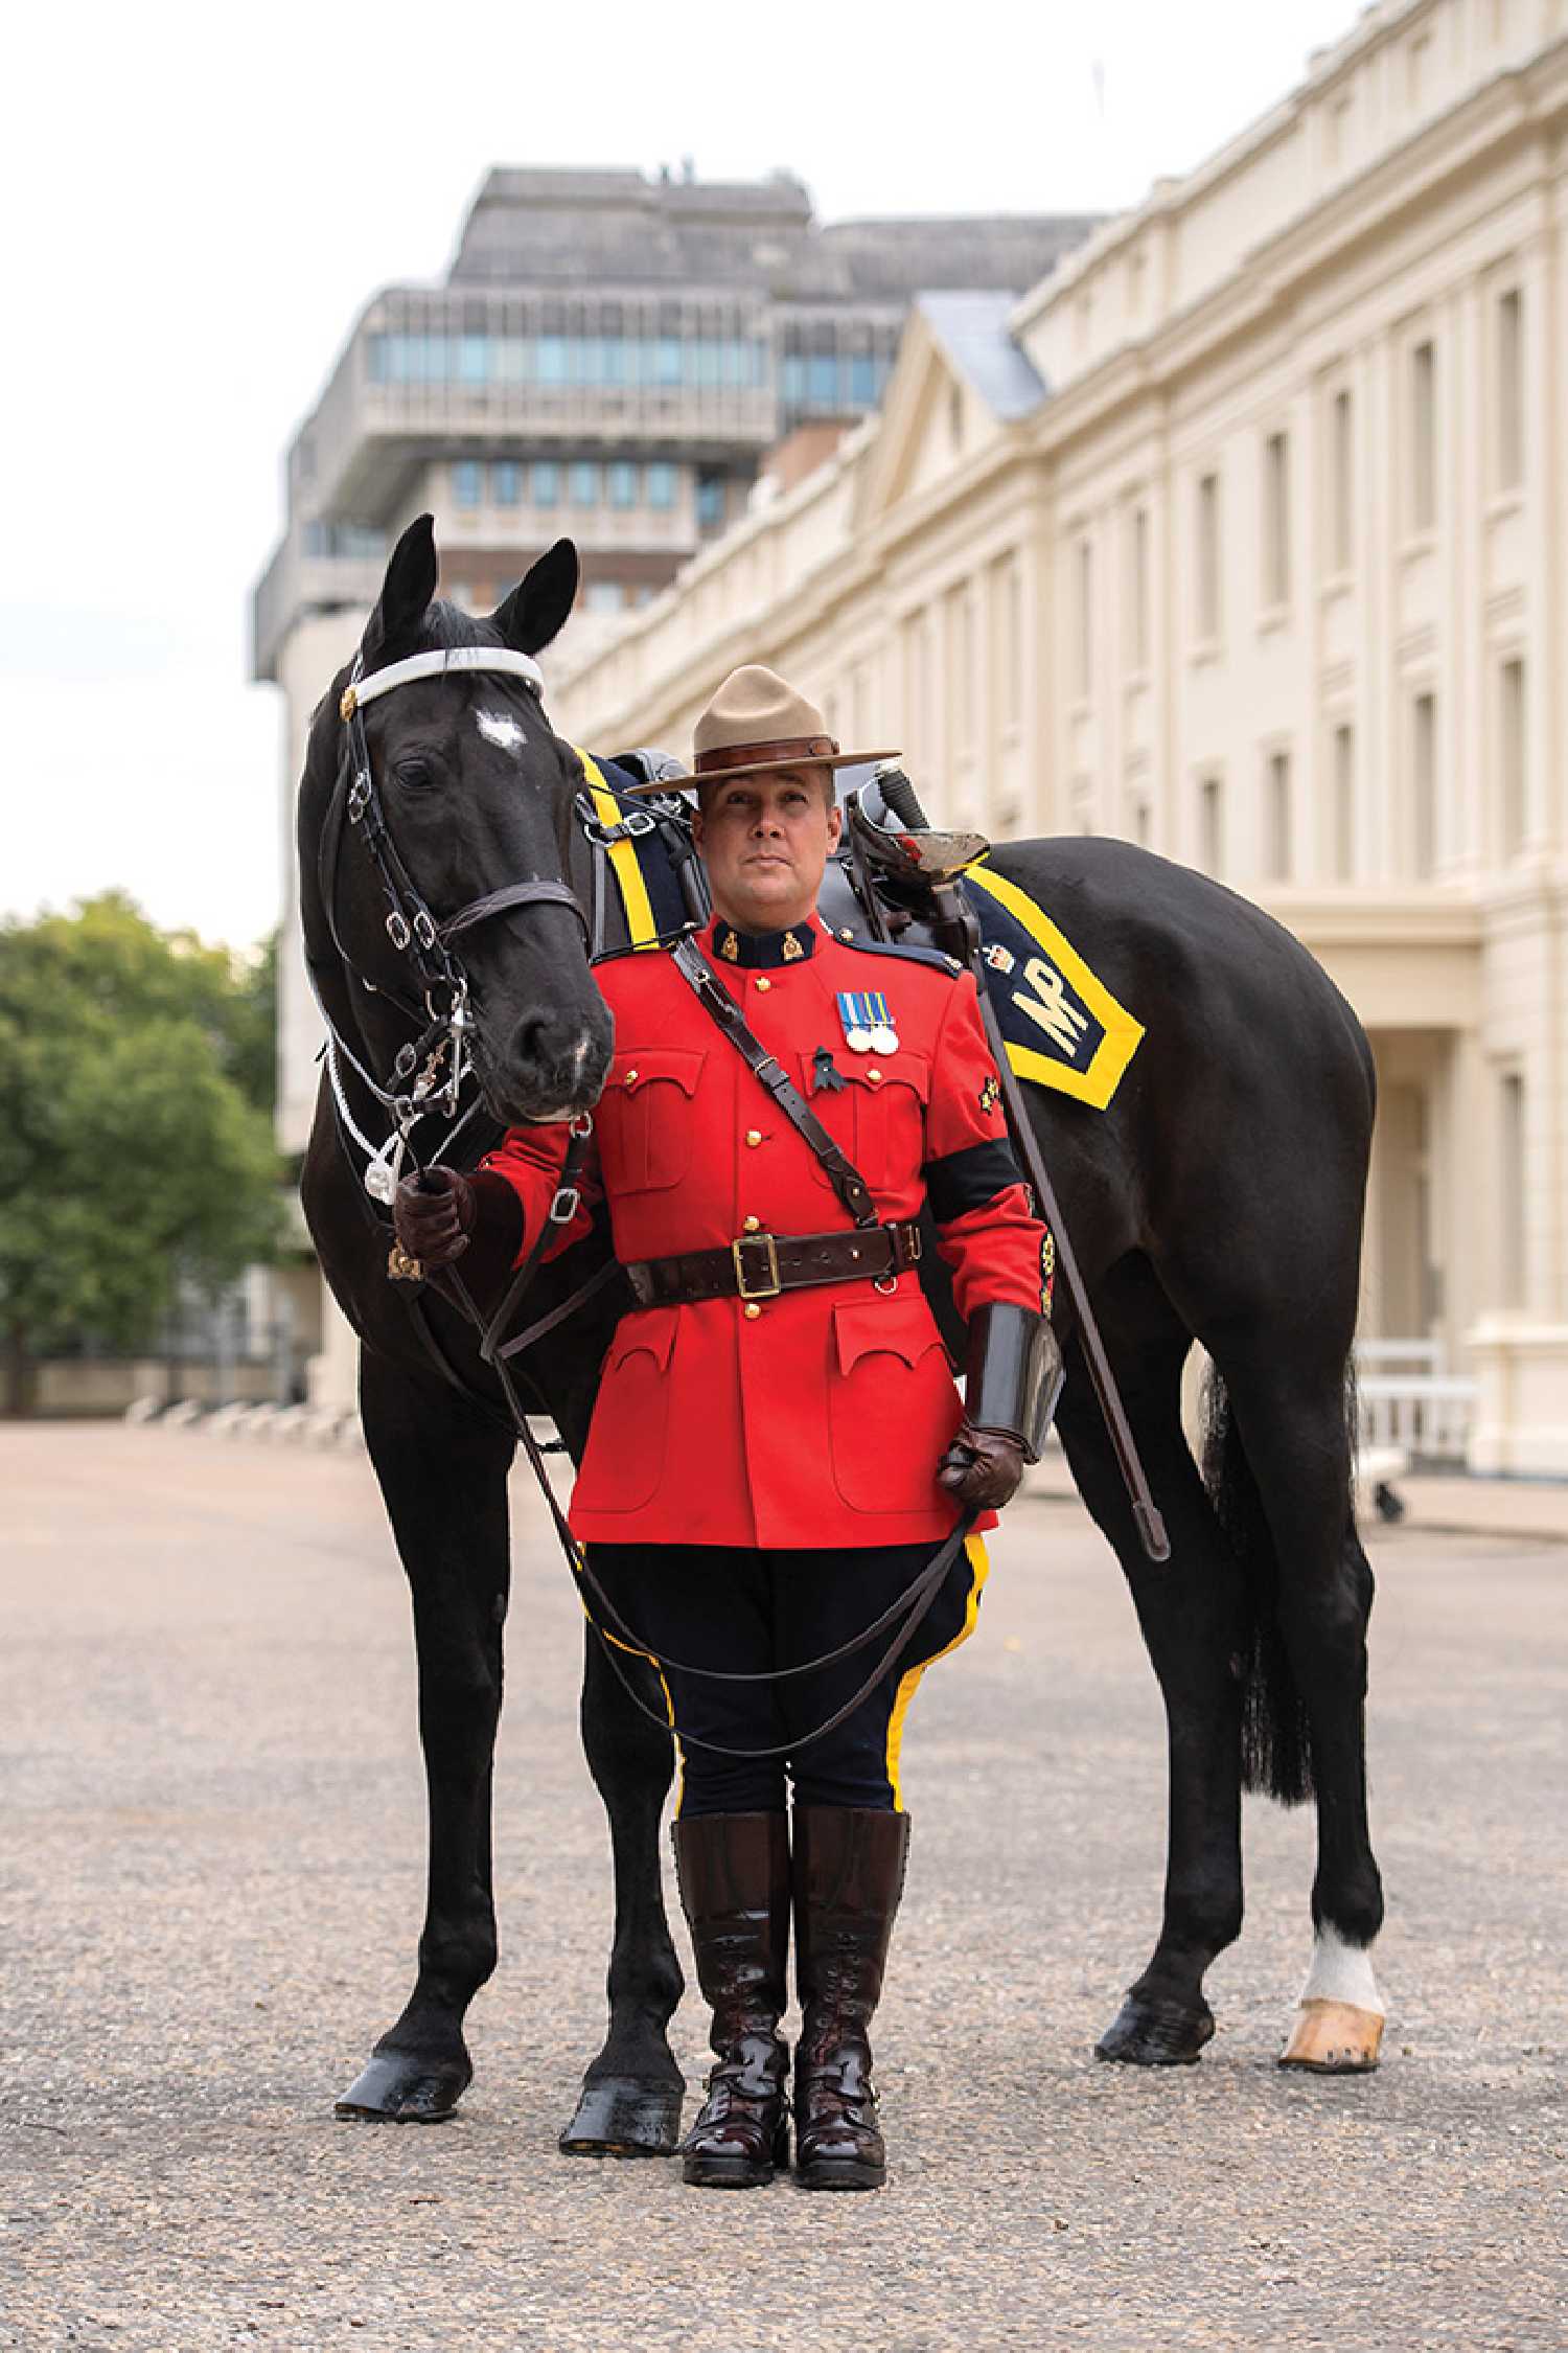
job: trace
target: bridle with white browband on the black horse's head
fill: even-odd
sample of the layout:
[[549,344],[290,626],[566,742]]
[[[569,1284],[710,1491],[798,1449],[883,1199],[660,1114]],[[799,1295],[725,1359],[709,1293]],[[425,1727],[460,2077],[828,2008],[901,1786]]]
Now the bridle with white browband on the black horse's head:
[[[393,1193],[397,1191],[397,1176],[411,1132],[425,1113],[440,1106],[449,1120],[458,1120],[458,1099],[463,1080],[470,1071],[468,1042],[473,1038],[473,1009],[468,974],[463,972],[461,958],[451,953],[451,941],[463,932],[473,932],[482,922],[489,922],[494,915],[510,913],[517,906],[569,908],[581,925],[583,946],[590,944],[592,932],[588,913],[583,911],[583,904],[571,885],[548,875],[508,882],[501,889],[484,892],[480,899],[470,899],[468,906],[461,906],[454,915],[437,918],[414,882],[397,842],[393,840],[393,831],[381,805],[381,791],[376,786],[369,739],[364,734],[364,704],[371,704],[376,696],[390,694],[395,687],[407,687],[421,678],[475,675],[522,678],[529,694],[536,699],[543,696],[543,673],[529,654],[520,654],[512,647],[454,645],[428,654],[409,654],[404,661],[393,661],[383,671],[371,671],[369,678],[364,675],[364,654],[355,654],[353,675],[339,701],[339,718],[346,727],[346,755],[339,765],[339,784],[327,824],[322,826],[317,859],[317,880],[327,927],[343,969],[353,974],[362,988],[393,998],[393,1002],[400,1005],[414,1024],[423,1024],[416,1038],[397,1047],[390,1082],[381,1085],[357,1059],[322,1005],[322,1021],[327,1024],[327,1075],[331,1080],[339,1115],[348,1122],[348,1132],[355,1141],[367,1151],[369,1165],[364,1169],[364,1188],[371,1200],[383,1205],[390,1205]],[[388,991],[378,981],[369,981],[355,969],[355,962],[343,946],[336,920],[336,880],[346,828],[360,835],[371,866],[376,868],[381,896],[386,899],[386,936],[393,948],[409,960],[421,1002],[411,1002],[411,998],[400,991]],[[343,1061],[355,1071],[362,1085],[369,1087],[393,1120],[395,1134],[381,1148],[371,1146],[369,1139],[360,1134],[353,1115],[348,1113],[341,1075]],[[463,1125],[475,1108],[477,1106],[470,1106],[458,1125]],[[451,1141],[451,1136],[447,1141]]]

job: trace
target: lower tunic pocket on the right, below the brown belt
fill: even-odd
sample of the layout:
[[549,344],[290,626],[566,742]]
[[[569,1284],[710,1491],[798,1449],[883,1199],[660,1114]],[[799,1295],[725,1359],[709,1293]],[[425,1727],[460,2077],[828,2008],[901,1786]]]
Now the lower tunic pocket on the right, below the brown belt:
[[832,1311],[827,1449],[851,1511],[931,1511],[959,1426],[947,1351],[919,1292]]

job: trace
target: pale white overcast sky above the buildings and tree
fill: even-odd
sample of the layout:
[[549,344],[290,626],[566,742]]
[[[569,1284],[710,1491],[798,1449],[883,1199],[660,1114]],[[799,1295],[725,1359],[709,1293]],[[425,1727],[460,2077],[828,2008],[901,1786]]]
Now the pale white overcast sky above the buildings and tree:
[[282,452],[376,285],[491,162],[797,172],[825,221],[1135,205],[1352,0],[45,5],[5,35],[0,911],[122,885],[277,915],[280,701],[244,675]]

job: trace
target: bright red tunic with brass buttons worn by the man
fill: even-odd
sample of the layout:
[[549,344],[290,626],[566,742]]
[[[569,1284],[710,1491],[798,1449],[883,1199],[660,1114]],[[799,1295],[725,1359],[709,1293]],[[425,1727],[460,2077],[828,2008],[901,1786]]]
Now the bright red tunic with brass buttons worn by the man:
[[[917,1219],[931,1200],[959,1313],[985,1301],[1039,1311],[1046,1228],[1006,1139],[971,974],[917,951],[846,946],[820,920],[771,934],[715,925],[703,951],[865,1176],[877,1214]],[[853,1226],[670,955],[618,958],[597,981],[616,1019],[597,1176],[621,1261]],[[839,991],[879,991],[896,1045],[853,1052]],[[564,1127],[515,1127],[484,1162],[522,1200],[524,1249],[564,1151]],[[567,1228],[567,1245],[581,1231]],[[604,1358],[571,1529],[588,1544],[936,1541],[954,1522],[936,1471],[957,1424],[914,1271],[886,1289],[635,1308]]]

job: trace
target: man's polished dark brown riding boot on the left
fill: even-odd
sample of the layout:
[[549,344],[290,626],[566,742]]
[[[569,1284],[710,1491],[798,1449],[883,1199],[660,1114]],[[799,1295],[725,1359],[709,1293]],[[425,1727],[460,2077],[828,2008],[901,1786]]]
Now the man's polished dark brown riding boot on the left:
[[788,1817],[677,1821],[675,1875],[719,2054],[682,2141],[684,2177],[698,2188],[750,2191],[790,2162],[790,2052],[778,2035],[790,2000]]

